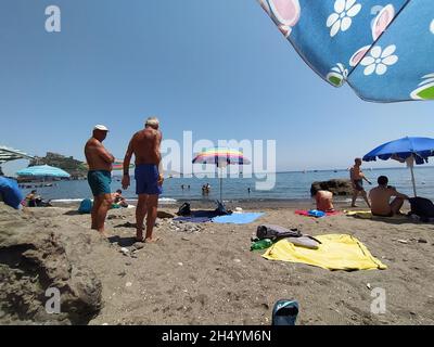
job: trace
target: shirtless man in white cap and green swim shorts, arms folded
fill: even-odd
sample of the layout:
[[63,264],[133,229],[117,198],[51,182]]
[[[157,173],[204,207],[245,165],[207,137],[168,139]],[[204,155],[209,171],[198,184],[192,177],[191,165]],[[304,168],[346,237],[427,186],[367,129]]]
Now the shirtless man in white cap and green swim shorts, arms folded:
[[101,235],[106,236],[104,231],[105,217],[112,206],[112,194],[110,183],[112,182],[112,164],[114,156],[108,153],[102,144],[108,129],[102,125],[93,128],[92,137],[86,142],[85,155],[88,162],[88,183],[93,194],[92,226]]

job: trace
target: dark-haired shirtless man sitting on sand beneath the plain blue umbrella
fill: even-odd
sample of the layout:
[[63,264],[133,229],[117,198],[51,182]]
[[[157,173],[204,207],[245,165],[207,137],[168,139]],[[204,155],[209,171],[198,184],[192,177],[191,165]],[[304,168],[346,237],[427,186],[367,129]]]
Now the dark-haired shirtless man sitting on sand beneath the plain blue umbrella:
[[[405,200],[409,197],[406,194],[399,193],[394,187],[387,185],[388,178],[380,176],[378,179],[379,185],[371,189],[369,197],[371,200],[371,213],[374,216],[393,217],[399,215],[400,207]],[[396,196],[392,203],[391,197]]]

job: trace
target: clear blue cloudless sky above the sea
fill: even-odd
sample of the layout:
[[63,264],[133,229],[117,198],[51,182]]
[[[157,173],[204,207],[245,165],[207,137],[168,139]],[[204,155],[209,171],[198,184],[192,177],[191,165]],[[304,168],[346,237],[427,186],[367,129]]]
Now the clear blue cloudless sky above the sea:
[[[50,4],[59,34],[44,30]],[[433,136],[433,103],[329,86],[255,0],[2,0],[0,46],[0,144],[29,154],[84,159],[105,124],[122,158],[149,115],[166,139],[273,139],[279,170],[346,168],[385,141]]]

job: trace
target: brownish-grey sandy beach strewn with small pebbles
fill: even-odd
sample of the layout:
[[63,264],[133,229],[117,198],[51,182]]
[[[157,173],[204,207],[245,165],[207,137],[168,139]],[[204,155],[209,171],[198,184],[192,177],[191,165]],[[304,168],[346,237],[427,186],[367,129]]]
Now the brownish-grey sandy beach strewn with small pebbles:
[[[0,234],[9,240],[16,232],[33,239],[50,234],[69,260],[90,269],[101,283],[102,306],[80,323],[270,324],[275,301],[294,298],[301,307],[298,324],[434,324],[433,224],[344,215],[312,219],[295,215],[295,206],[241,207],[265,215],[250,224],[174,226],[170,218],[158,218],[155,233],[161,240],[140,249],[133,246],[135,209],[110,211],[112,237],[106,241],[88,230],[90,216],[77,215],[75,208],[34,208],[16,215],[2,206]],[[174,214],[176,208],[161,210]],[[250,250],[260,223],[295,227],[310,235],[354,235],[387,269],[330,271],[266,260],[263,252]],[[5,239],[0,240],[0,267],[9,259]],[[31,275],[21,280],[35,282]],[[2,283],[3,292],[8,285]],[[375,287],[385,290],[385,314],[370,312]],[[4,299],[0,296],[2,305]],[[23,305],[15,305],[20,312]],[[18,317],[4,306],[0,313],[3,324],[35,320],[31,312]]]

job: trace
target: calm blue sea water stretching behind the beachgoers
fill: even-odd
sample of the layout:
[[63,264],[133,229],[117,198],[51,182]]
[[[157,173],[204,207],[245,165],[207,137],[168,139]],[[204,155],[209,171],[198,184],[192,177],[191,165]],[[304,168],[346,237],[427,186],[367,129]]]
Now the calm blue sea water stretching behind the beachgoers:
[[[122,189],[122,177],[113,176],[112,191]],[[372,185],[365,182],[365,189],[368,191],[376,185],[376,178],[385,175],[390,179],[390,184],[405,194],[412,195],[411,175],[406,167],[403,168],[382,168],[367,170],[365,175]],[[256,180],[254,178],[224,178],[222,179],[222,196],[224,201],[268,201],[283,200],[297,201],[310,198],[310,184],[314,181],[326,181],[330,179],[347,179],[349,176],[347,170],[319,170],[307,172],[278,172],[276,174],[275,188],[267,191],[255,189]],[[418,166],[414,168],[414,178],[417,182],[417,191],[419,196],[434,200],[434,167]],[[164,181],[164,192],[159,197],[161,203],[176,203],[177,201],[214,201],[219,198],[219,179],[197,179],[195,177],[174,177],[166,178]],[[132,185],[123,191],[123,195],[128,200],[137,198],[135,193],[135,181],[131,177]],[[210,192],[208,195],[202,195],[202,185],[209,183]],[[184,185],[182,190],[181,185]],[[190,189],[188,189],[190,185]],[[251,192],[248,193],[248,188]],[[31,189],[23,189],[23,193],[27,194]],[[53,187],[37,188],[38,194],[46,200],[54,202],[79,202],[82,198],[91,197],[91,191],[86,180],[79,181],[59,181]],[[340,197],[336,197],[340,198]],[[348,198],[348,197],[344,197]]]

